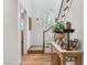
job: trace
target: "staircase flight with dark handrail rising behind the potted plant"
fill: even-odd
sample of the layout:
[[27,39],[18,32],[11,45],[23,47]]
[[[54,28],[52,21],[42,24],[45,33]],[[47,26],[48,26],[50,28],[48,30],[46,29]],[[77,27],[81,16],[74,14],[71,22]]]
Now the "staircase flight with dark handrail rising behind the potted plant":
[[[73,2],[73,0],[62,0],[58,15],[57,15],[57,18],[55,18],[55,21],[54,21],[55,23],[57,23],[57,22],[64,22],[65,23],[65,19],[68,15],[72,2]],[[53,25],[50,26],[48,29],[46,29],[43,32],[43,50],[44,50],[44,53],[51,53],[50,42],[54,40],[54,34],[52,32],[52,28],[53,28]]]

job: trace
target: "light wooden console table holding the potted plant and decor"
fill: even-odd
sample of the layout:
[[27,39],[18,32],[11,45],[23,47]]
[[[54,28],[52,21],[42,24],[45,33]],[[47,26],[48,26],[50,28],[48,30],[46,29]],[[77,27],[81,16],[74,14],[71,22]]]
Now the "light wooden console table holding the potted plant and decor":
[[68,57],[72,57],[75,62],[75,65],[81,65],[83,51],[66,51],[62,50],[55,42],[51,42],[51,52],[53,48],[56,51],[56,54],[61,58],[61,65],[66,65]]

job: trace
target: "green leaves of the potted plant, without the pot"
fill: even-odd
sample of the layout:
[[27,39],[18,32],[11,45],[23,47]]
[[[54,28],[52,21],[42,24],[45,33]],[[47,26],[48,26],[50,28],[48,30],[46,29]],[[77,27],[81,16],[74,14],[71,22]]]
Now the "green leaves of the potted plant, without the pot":
[[63,33],[63,32],[64,32],[64,29],[65,29],[64,23],[58,22],[57,24],[55,24],[55,25],[53,26],[53,32],[54,32],[54,33]]

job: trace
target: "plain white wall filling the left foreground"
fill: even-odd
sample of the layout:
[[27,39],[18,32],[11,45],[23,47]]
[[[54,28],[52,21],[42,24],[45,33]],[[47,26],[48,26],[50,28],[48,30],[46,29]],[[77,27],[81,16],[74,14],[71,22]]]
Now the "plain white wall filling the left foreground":
[[18,0],[4,0],[4,65],[19,65],[21,61],[18,22]]

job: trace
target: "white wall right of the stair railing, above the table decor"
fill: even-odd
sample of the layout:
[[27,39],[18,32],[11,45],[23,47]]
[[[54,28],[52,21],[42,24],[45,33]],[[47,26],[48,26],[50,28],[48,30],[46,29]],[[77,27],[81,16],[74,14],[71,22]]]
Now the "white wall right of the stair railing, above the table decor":
[[77,37],[80,41],[81,50],[84,47],[84,1],[73,0],[66,21],[70,21],[75,33],[70,34],[72,39]]

